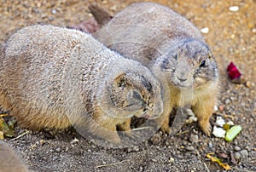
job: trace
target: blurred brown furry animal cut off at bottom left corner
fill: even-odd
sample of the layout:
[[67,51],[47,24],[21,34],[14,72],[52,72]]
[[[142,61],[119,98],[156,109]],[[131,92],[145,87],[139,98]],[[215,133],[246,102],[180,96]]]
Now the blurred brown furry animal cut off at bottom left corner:
[[3,141],[0,141],[0,172],[28,172],[15,151]]

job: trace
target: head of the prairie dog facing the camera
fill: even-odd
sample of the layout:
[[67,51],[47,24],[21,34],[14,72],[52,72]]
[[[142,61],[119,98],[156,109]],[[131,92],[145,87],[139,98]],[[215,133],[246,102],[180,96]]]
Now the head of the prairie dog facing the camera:
[[160,60],[168,82],[179,89],[201,88],[218,80],[218,66],[205,43],[183,41]]

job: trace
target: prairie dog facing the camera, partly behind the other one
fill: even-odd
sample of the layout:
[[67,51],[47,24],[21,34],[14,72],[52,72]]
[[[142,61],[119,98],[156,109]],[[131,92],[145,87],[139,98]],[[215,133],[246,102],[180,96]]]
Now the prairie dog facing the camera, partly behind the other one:
[[168,124],[172,109],[189,105],[201,129],[210,135],[209,118],[218,95],[218,66],[189,20],[158,3],[133,3],[93,36],[119,54],[164,72],[168,83],[164,89],[170,90],[171,99],[156,120],[163,123],[163,131],[171,132]]

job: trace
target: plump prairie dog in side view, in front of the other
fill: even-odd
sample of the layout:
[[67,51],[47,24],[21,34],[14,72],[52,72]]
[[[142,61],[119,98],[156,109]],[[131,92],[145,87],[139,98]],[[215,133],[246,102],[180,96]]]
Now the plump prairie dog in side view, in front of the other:
[[117,126],[129,133],[132,116],[163,112],[160,82],[148,68],[84,32],[24,27],[1,47],[0,63],[0,105],[28,129],[72,124],[119,143]]

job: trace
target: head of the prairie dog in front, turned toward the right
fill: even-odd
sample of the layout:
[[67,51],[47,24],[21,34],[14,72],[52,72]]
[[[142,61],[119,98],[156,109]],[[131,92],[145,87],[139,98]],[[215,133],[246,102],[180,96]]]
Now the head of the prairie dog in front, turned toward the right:
[[[128,65],[128,64],[127,64]],[[157,118],[163,112],[160,82],[144,66],[121,66],[113,72],[106,83],[104,97],[108,104],[101,103],[102,110],[114,118]],[[108,106],[106,106],[108,105]]]

